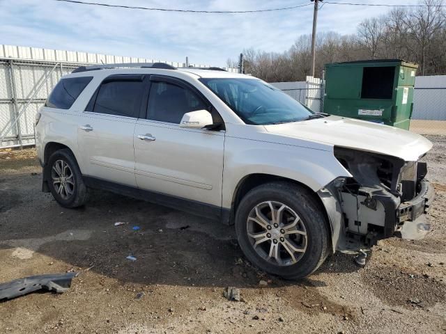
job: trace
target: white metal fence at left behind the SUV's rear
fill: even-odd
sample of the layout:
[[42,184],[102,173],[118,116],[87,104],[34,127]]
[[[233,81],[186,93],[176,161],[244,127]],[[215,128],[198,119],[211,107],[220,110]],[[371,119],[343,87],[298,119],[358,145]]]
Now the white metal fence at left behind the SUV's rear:
[[[0,45],[0,140],[4,137],[0,141],[0,148],[33,144],[33,123],[36,113],[43,106],[61,76],[70,73],[80,65],[138,62],[162,62],[176,67],[185,67],[185,63],[158,61],[151,58]],[[47,77],[53,67],[53,72]],[[236,72],[236,69],[228,70]],[[45,77],[47,79],[43,81]],[[41,83],[43,86],[30,101]],[[24,109],[25,106],[26,109]],[[21,116],[17,119],[19,113]]]

